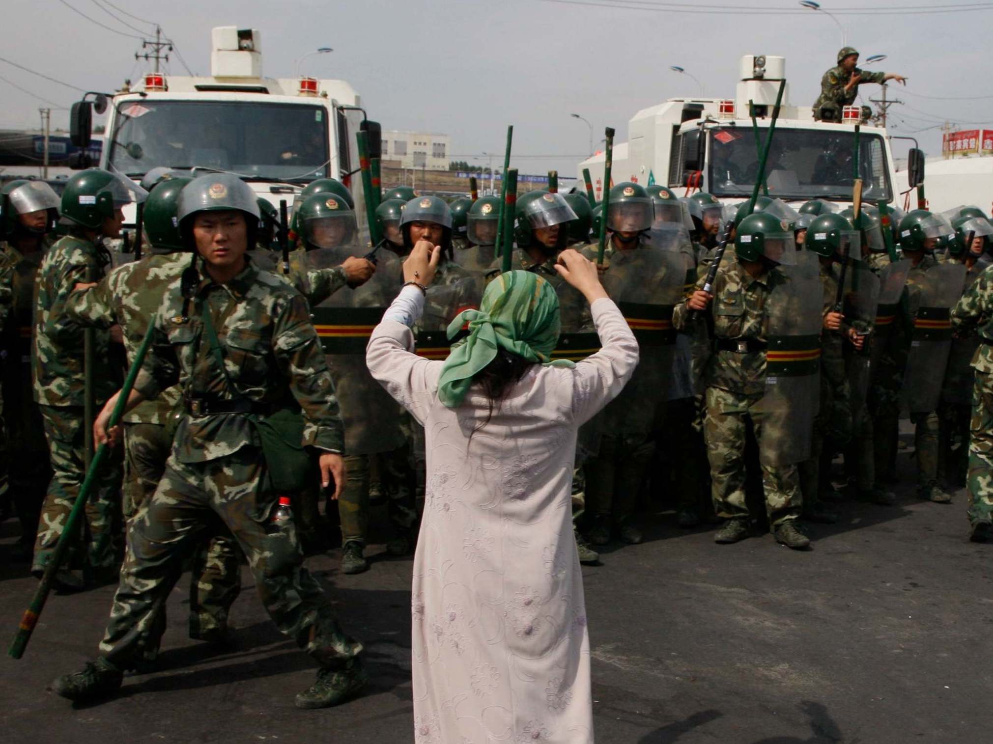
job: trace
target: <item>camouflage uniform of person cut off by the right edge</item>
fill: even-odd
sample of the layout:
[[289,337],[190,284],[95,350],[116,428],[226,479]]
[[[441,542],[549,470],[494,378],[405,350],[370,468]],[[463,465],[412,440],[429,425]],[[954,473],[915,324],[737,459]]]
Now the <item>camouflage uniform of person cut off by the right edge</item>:
[[993,274],[984,271],[951,311],[956,333],[975,333],[979,346],[972,358],[972,421],[969,423],[969,522],[993,522]]

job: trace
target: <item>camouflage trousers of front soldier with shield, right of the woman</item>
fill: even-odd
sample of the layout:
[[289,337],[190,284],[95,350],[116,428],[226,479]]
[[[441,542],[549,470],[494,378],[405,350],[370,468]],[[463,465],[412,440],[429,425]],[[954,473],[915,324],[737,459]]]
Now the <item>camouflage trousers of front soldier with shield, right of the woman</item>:
[[[710,460],[711,492],[718,517],[747,518],[745,496],[745,444],[751,421],[760,451],[762,418],[755,413],[761,395],[740,395],[721,388],[707,388],[707,413],[703,433]],[[796,465],[761,464],[766,512],[772,526],[799,517],[803,499],[800,495]]]

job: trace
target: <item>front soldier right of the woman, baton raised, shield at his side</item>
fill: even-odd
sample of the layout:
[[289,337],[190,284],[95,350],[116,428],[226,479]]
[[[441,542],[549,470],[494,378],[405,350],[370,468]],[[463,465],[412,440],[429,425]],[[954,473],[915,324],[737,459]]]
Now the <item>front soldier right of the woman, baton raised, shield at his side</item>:
[[[704,371],[706,419],[704,434],[710,459],[714,508],[726,519],[715,535],[717,543],[737,543],[751,534],[745,499],[745,445],[751,419],[759,446],[766,423],[758,413],[766,395],[767,334],[770,296],[784,283],[779,262],[792,248],[788,226],[780,229],[773,215],[756,213],[738,225],[736,259],[722,263],[714,294],[703,291],[704,280],[693,296],[676,307],[673,324],[685,328],[701,322],[692,310],[707,310],[716,337],[715,353]],[[778,542],[804,549],[810,541],[796,527],[802,509],[796,465],[762,463],[766,510]]]

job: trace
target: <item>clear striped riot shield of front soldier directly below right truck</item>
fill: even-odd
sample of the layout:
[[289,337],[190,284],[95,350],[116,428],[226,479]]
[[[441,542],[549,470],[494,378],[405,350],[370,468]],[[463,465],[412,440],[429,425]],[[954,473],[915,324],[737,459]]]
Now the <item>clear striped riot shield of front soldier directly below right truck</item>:
[[766,303],[766,391],[755,408],[762,426],[759,458],[788,465],[810,456],[813,420],[820,408],[820,329],[823,289],[817,257],[800,252],[780,266]]

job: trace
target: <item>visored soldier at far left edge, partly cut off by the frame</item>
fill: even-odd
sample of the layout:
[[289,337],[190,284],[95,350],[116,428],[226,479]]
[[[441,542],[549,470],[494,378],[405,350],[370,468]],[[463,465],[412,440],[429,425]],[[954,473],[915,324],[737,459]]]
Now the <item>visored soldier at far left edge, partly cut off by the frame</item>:
[[[30,560],[38,519],[52,469],[45,427],[32,395],[31,339],[35,325],[35,275],[52,242],[60,198],[42,181],[12,181],[0,189],[0,322],[3,400],[6,401],[5,454],[9,493],[21,523],[21,537],[11,549],[15,559]],[[9,300],[8,302],[4,302]],[[2,425],[0,425],[2,426]]]

